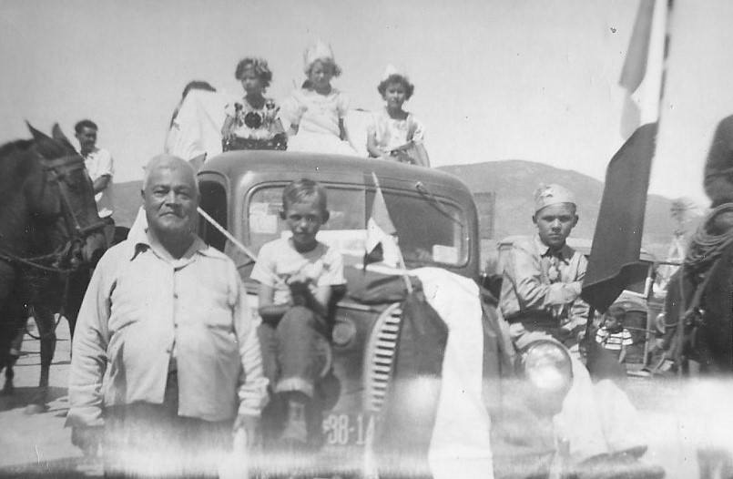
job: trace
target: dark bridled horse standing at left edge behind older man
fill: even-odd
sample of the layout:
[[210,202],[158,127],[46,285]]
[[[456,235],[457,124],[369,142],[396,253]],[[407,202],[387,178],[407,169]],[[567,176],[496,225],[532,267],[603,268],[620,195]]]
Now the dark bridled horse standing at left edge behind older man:
[[[11,341],[33,305],[41,339],[41,377],[33,403],[46,403],[56,345],[54,314],[76,319],[88,268],[106,247],[84,160],[61,129],[0,147],[0,371],[12,392]],[[71,321],[70,321],[71,323]],[[73,325],[72,325],[73,330]],[[30,412],[36,412],[31,410]]]

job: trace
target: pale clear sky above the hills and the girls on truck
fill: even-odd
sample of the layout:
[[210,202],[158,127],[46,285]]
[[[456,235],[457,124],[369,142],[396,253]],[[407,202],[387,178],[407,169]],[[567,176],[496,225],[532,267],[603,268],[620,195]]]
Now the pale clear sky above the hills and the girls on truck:
[[[525,159],[603,179],[623,143],[618,86],[636,0],[0,0],[0,142],[25,120],[73,135],[99,125],[116,181],[161,152],[182,88],[239,95],[243,56],[268,59],[268,94],[304,79],[302,53],[331,44],[351,106],[376,109],[387,64],[412,79],[406,105],[433,166]],[[707,204],[702,168],[733,112],[733,3],[677,0],[651,192]],[[8,66],[10,66],[8,68]],[[542,178],[538,178],[539,183]]]

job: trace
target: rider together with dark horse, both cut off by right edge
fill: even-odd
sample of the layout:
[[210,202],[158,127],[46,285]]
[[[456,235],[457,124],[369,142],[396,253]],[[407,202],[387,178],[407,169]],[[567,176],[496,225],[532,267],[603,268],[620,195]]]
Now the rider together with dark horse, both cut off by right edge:
[[665,358],[686,375],[733,372],[733,116],[716,127],[704,175],[711,210],[669,279],[665,300]]

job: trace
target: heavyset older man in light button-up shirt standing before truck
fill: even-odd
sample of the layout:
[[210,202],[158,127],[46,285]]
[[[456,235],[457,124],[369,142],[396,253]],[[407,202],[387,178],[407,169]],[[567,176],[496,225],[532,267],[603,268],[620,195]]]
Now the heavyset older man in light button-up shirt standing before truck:
[[193,169],[153,158],[142,195],[148,228],[107,251],[79,313],[67,421],[87,450],[104,425],[107,474],[200,474],[232,425],[255,440],[267,380],[239,273],[194,233]]

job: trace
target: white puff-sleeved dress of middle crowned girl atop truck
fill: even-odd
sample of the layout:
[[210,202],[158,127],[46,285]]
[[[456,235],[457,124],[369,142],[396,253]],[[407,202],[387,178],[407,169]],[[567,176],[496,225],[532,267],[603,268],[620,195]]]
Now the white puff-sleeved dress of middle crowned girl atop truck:
[[340,138],[339,119],[346,116],[348,98],[336,88],[328,95],[301,88],[282,104],[281,117],[298,125],[298,133],[288,138],[289,151],[355,155],[351,145]]

